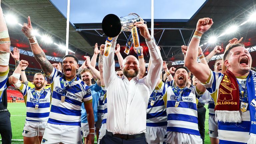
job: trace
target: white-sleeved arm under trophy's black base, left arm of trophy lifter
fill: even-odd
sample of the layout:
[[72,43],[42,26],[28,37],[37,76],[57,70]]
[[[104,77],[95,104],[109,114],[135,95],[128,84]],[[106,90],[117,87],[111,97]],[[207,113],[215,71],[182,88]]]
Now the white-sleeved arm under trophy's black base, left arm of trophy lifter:
[[[116,40],[118,36],[114,37],[112,40],[111,48],[108,54],[108,57],[103,56],[103,78],[105,82],[106,88],[117,79],[117,75],[115,73],[115,61],[114,61],[114,50],[116,47]],[[105,45],[105,48],[107,46]]]

